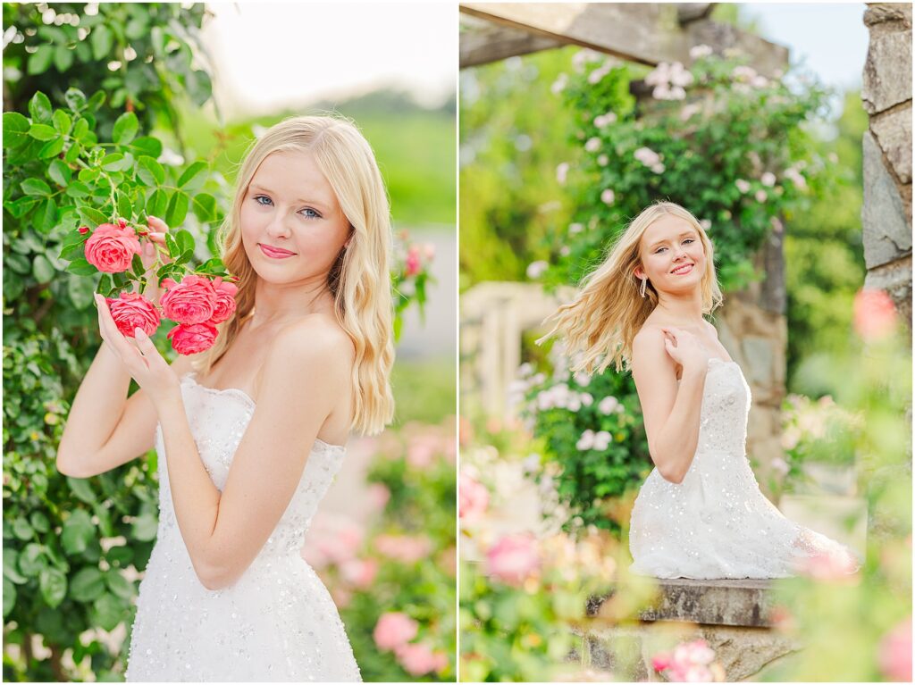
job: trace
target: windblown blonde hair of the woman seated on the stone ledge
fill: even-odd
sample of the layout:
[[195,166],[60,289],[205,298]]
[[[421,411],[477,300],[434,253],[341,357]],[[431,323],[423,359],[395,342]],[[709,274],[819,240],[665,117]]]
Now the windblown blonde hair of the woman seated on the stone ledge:
[[706,260],[700,283],[702,313],[710,314],[724,301],[715,271],[715,248],[702,225],[687,209],[659,200],[630,221],[604,262],[584,279],[575,300],[545,319],[544,323],[554,320],[553,329],[537,342],[553,336],[565,339],[566,353],[574,360],[573,371],[600,373],[611,363],[618,372],[624,366],[630,369],[632,340],[658,305],[651,281],[645,297],[639,292],[641,282],[635,275],[636,267],[642,265],[639,245],[645,230],[665,215],[684,219],[702,241]]

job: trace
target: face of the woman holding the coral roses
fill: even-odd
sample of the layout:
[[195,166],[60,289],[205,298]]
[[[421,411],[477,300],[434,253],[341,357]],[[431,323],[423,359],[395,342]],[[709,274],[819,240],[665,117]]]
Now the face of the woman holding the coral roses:
[[272,284],[324,278],[350,237],[350,222],[312,155],[274,152],[242,199],[242,244]]

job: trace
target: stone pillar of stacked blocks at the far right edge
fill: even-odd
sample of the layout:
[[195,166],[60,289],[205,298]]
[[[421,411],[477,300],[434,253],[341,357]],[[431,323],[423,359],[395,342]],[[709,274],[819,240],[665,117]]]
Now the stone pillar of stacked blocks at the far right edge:
[[911,335],[912,5],[869,3],[870,45],[861,100],[864,134],[865,287],[885,290]]

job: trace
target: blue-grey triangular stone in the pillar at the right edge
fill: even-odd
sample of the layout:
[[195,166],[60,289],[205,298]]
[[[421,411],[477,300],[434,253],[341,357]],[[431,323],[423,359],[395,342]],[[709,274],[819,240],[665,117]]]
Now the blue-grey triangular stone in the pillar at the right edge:
[[873,134],[864,134],[864,258],[868,269],[895,262],[910,254],[911,218],[905,216],[896,182],[883,165],[883,154]]

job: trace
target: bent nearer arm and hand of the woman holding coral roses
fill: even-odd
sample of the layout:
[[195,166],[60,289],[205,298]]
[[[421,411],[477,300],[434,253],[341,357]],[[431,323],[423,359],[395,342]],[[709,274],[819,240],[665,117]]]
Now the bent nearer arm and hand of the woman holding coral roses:
[[178,529],[194,570],[210,590],[231,585],[283,515],[321,426],[342,411],[341,399],[349,401],[355,357],[350,338],[318,316],[274,338],[257,406],[220,492],[200,461],[180,385],[165,359],[142,332],[137,347],[131,345],[106,307],[104,313],[104,336],[156,407]]

